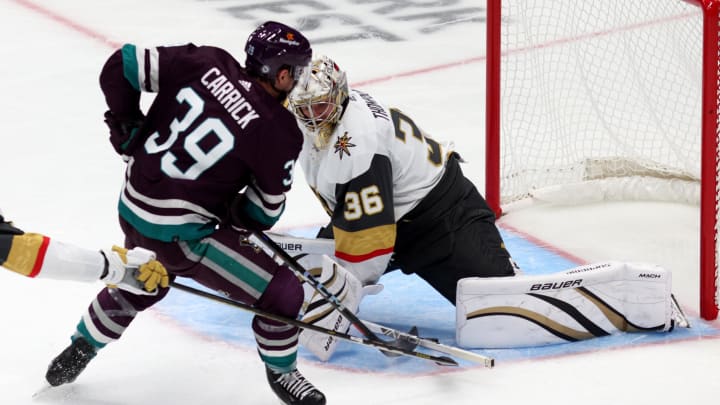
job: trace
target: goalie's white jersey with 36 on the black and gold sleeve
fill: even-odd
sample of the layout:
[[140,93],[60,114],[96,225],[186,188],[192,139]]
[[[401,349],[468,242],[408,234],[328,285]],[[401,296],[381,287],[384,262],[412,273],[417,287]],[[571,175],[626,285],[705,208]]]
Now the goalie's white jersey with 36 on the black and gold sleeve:
[[396,223],[440,181],[449,143],[424,134],[400,110],[351,90],[327,148],[305,133],[299,162],[331,216],[335,256],[365,283],[385,271]]

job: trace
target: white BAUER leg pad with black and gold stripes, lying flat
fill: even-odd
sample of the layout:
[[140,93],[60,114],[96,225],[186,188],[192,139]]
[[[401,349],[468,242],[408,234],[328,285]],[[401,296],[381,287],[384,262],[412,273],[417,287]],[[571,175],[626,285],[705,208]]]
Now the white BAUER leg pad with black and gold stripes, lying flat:
[[458,282],[458,345],[511,348],[672,327],[671,274],[602,262],[539,276]]

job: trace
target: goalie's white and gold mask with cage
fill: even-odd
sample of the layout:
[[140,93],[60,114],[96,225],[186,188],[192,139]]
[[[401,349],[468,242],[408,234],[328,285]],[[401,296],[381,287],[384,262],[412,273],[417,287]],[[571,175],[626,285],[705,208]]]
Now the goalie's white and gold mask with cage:
[[320,56],[310,63],[290,93],[289,108],[314,135],[317,148],[330,143],[348,91],[345,72],[332,59]]

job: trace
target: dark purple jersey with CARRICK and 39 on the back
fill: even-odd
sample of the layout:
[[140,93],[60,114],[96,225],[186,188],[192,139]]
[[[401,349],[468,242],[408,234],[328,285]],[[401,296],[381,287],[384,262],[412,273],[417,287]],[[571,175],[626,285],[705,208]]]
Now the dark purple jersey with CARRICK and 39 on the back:
[[157,93],[128,161],[120,216],[147,237],[212,233],[245,189],[243,209],[270,228],[285,204],[302,134],[292,114],[222,49],[125,45],[103,68],[110,110]]

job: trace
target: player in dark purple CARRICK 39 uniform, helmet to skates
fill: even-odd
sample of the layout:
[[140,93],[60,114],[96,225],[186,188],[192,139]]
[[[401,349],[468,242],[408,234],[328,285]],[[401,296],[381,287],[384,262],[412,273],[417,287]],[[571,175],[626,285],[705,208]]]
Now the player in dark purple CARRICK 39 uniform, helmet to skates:
[[[245,67],[222,49],[193,44],[126,44],[107,60],[100,75],[105,121],[110,142],[127,161],[120,225],[126,247],[155,251],[171,279],[190,277],[295,318],[300,282],[246,241],[247,229],[268,229],[283,212],[302,146],[283,101],[312,51],[300,32],[269,21],[250,34],[245,52]],[[147,114],[140,110],[141,91],[157,93]],[[50,364],[48,382],[74,381],[99,349],[166,293],[102,290],[72,344]],[[288,404],[324,404],[324,395],[297,371],[298,328],[259,316],[252,328],[276,395]]]

